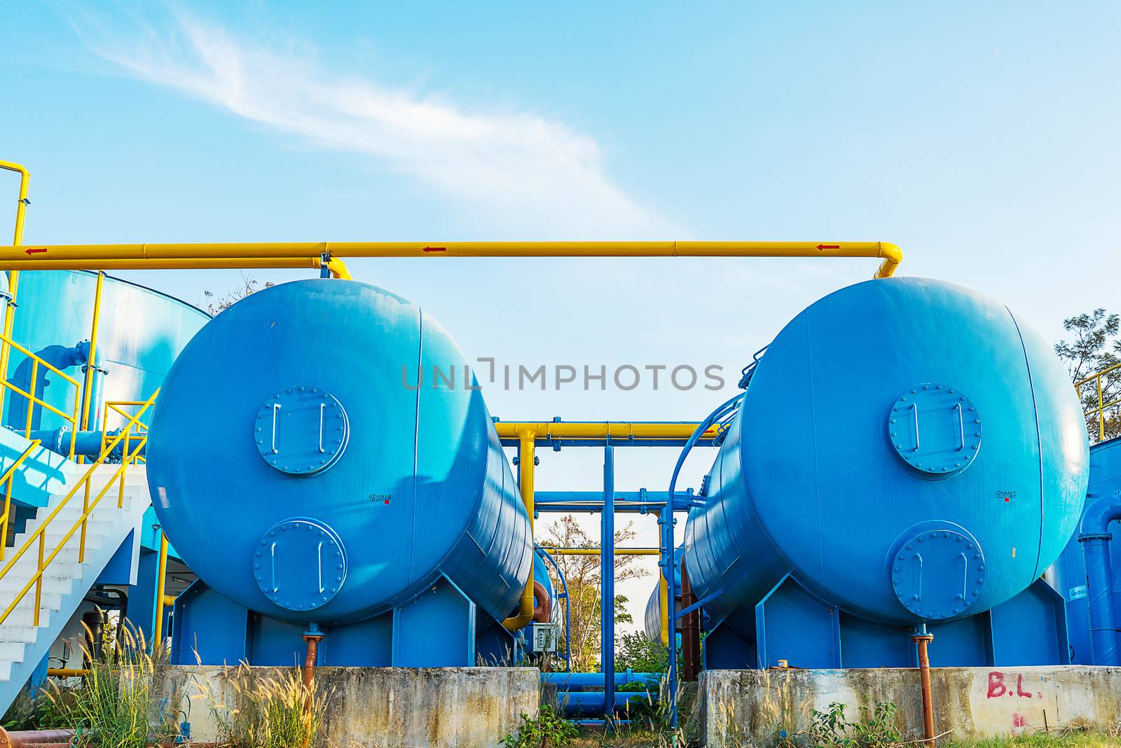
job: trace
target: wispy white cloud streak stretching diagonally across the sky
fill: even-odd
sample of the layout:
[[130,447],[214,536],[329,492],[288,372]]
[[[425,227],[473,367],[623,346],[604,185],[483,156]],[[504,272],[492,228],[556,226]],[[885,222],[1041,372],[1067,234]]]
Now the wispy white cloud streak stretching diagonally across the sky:
[[599,237],[673,231],[610,178],[594,138],[538,114],[470,112],[242,41],[182,11],[127,30],[104,19],[75,26],[93,53],[129,75],[376,159],[489,226]]

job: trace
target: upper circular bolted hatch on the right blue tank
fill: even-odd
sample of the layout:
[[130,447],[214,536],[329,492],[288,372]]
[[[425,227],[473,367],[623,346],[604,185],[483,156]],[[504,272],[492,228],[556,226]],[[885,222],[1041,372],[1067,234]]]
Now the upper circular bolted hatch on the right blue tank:
[[981,414],[958,387],[915,384],[896,395],[887,418],[896,455],[928,475],[956,475],[976,459]]

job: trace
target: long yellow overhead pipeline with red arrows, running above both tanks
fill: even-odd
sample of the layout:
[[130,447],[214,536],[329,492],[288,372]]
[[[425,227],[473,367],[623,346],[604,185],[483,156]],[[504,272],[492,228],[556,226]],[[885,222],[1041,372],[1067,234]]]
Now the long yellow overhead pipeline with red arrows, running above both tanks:
[[6,246],[0,247],[0,269],[31,270],[30,263],[43,261],[94,262],[104,268],[101,261],[105,260],[249,262],[323,254],[334,258],[878,258],[882,262],[877,278],[890,277],[902,261],[900,249],[887,242],[252,242]]

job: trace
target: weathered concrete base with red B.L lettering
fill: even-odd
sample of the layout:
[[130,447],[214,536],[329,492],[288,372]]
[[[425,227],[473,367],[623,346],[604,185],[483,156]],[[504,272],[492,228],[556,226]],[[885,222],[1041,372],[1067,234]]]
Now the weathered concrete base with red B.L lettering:
[[[935,733],[963,740],[1083,726],[1102,732],[1121,721],[1121,667],[935,667]],[[917,670],[713,670],[701,674],[698,731],[710,748],[765,742],[813,722],[812,710],[891,702],[907,739],[923,733]]]

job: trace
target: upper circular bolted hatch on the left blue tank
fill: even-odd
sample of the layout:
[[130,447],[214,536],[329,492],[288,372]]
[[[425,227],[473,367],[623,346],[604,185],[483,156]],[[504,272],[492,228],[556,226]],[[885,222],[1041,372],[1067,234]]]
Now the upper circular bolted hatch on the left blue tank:
[[253,422],[257,451],[270,467],[293,476],[326,470],[342,457],[349,439],[346,410],[323,387],[276,392]]

